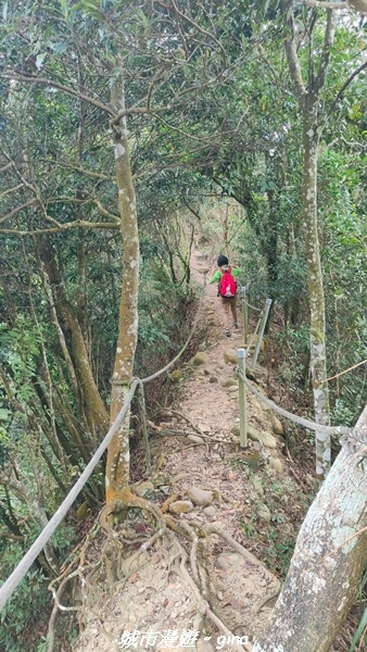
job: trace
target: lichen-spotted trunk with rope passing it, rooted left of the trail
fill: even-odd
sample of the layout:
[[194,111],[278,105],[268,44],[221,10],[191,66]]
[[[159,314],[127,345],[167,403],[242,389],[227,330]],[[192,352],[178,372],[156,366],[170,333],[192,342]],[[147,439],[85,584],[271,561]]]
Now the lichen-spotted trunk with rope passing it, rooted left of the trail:
[[[122,117],[112,121],[116,161],[116,183],[123,237],[123,287],[119,304],[118,340],[112,376],[111,424],[118,415],[132,378],[138,341],[139,233],[135,188],[128,151],[125,95],[122,71],[111,89],[112,104]],[[112,511],[114,501],[129,482],[129,424],[126,415],[107,450],[105,472],[106,506]]]

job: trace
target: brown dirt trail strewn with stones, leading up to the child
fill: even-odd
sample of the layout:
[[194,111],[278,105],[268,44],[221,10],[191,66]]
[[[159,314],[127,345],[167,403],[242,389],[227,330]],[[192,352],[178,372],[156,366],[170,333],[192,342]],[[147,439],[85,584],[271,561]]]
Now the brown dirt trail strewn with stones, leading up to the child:
[[[192,273],[198,281],[202,283],[207,267],[207,261],[195,252]],[[142,554],[124,561],[113,594],[97,573],[88,586],[85,630],[74,652],[238,650],[215,618],[248,649],[246,637],[251,640],[256,635],[274,604],[274,600],[264,602],[279,587],[277,578],[238,544],[246,549],[243,526],[249,519],[258,515],[264,527],[270,519],[256,468],[266,465],[268,479],[282,473],[281,441],[270,435],[273,448],[258,441],[250,441],[245,451],[239,448],[232,432],[239,425],[235,365],[224,354],[229,347],[241,346],[243,338],[240,329],[231,338],[224,337],[215,286],[207,287],[201,310],[201,318],[208,324],[203,364],[190,365],[190,371],[184,367],[179,399],[155,425],[152,455],[157,471],[151,482],[136,488],[160,506],[164,504],[167,514],[174,513],[188,538],[159,538]],[[252,396],[248,411],[250,424],[273,431],[270,413]],[[278,471],[271,466],[274,460],[279,462]],[[249,473],[252,462],[256,473]],[[206,537],[190,542],[193,532],[201,536],[201,528]],[[201,594],[187,570],[190,554],[202,568],[195,578]],[[203,620],[207,603],[215,615]]]

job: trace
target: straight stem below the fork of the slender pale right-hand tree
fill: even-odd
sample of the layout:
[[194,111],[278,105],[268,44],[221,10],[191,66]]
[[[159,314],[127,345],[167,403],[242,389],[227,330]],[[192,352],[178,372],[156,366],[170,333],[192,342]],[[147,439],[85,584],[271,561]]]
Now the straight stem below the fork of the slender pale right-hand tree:
[[[325,294],[317,224],[317,99],[311,93],[304,106],[303,225],[305,231],[309,300],[309,350],[316,423],[329,425],[329,390],[326,368]],[[331,462],[330,436],[316,431],[316,475],[325,479]]]

